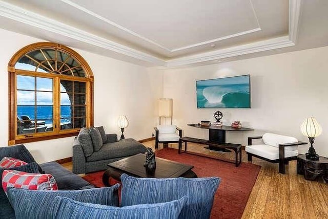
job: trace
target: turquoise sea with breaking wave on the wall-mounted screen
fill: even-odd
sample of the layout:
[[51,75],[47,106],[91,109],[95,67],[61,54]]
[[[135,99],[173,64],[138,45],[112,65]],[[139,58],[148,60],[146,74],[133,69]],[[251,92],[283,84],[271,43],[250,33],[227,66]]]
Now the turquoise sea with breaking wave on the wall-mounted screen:
[[250,108],[249,84],[197,86],[198,108]]

